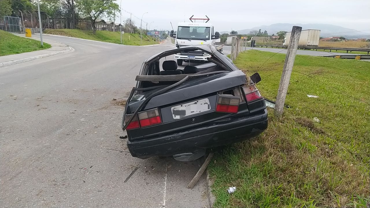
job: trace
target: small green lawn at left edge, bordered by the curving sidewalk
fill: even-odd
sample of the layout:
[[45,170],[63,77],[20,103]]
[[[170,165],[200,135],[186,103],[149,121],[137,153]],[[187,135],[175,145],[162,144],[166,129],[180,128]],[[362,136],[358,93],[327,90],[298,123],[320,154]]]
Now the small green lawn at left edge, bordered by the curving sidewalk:
[[50,47],[50,44],[47,43],[44,43],[44,47],[41,47],[40,41],[15,36],[0,30],[0,56],[37,51]]

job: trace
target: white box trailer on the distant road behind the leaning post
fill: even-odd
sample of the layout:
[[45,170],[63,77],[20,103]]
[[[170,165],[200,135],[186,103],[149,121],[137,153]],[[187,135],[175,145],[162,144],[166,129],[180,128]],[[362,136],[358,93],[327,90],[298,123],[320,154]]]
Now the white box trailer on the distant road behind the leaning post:
[[[285,35],[283,45],[289,44],[290,41],[290,34],[292,32],[288,32]],[[299,37],[298,46],[319,46],[320,40],[320,30],[302,30],[301,35]]]

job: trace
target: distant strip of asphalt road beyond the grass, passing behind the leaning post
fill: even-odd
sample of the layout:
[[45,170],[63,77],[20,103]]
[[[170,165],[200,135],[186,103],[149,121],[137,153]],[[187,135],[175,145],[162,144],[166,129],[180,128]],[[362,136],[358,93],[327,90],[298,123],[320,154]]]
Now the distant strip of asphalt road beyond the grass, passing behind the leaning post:
[[[258,48],[258,47],[246,47],[246,50],[260,50],[260,51],[269,51],[273,53],[284,53],[286,54],[287,50],[284,50],[283,48]],[[224,46],[223,47],[223,53],[230,54],[231,53],[231,46]],[[349,54],[349,53],[335,53],[327,51],[314,51],[314,50],[297,50],[297,54],[299,55],[307,55],[307,56],[333,56],[333,55],[355,55],[355,54]]]

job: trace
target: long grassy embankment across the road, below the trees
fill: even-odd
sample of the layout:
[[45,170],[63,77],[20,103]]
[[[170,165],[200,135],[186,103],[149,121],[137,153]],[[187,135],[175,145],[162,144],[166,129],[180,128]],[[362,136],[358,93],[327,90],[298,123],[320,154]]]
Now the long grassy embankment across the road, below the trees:
[[[96,34],[92,34],[91,30],[77,30],[77,29],[46,29],[45,34],[53,34],[68,37],[77,37],[88,40],[97,40],[108,43],[121,43],[120,32],[111,31],[96,31]],[[137,33],[125,33],[122,36],[124,45],[140,46],[140,45],[151,45],[158,44],[157,41],[148,41],[148,36],[142,35],[142,44],[140,40],[140,34]]]

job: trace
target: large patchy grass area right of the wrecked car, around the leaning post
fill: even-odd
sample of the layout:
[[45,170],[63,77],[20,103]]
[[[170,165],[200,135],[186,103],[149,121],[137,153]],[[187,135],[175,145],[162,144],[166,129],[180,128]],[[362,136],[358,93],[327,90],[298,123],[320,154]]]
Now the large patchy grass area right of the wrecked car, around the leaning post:
[[[258,71],[261,94],[276,100],[285,54],[272,55],[249,50],[234,63],[248,75]],[[263,134],[221,148],[210,163],[215,207],[366,208],[370,106],[317,80],[370,103],[369,69],[366,61],[296,56],[282,119],[269,109]]]

